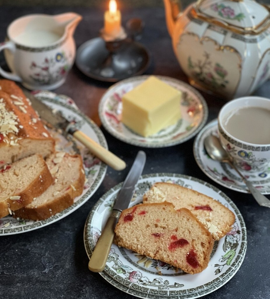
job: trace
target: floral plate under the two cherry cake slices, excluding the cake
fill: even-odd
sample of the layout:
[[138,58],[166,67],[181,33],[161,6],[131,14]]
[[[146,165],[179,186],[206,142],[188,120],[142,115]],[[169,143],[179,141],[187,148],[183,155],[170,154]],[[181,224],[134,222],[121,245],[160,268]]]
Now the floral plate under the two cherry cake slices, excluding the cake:
[[[215,242],[208,267],[199,274],[185,274],[181,270],[157,260],[135,254],[112,245],[104,271],[100,274],[124,292],[141,298],[196,298],[223,286],[240,268],[246,253],[246,227],[242,215],[231,199],[219,189],[199,179],[173,173],[154,173],[142,176],[130,206],[142,202],[142,196],[158,181],[171,181],[211,196],[235,214],[233,229]],[[122,183],[105,193],[96,202],[85,223],[85,249],[90,258],[97,239],[111,213]]]

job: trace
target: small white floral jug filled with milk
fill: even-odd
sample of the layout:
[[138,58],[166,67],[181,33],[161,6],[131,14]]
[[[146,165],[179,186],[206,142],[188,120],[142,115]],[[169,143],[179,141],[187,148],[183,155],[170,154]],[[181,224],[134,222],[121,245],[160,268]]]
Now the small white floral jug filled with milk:
[[82,16],[30,14],[14,20],[7,28],[0,51],[10,71],[0,67],[1,76],[21,82],[27,89],[56,89],[61,86],[76,56],[73,33]]

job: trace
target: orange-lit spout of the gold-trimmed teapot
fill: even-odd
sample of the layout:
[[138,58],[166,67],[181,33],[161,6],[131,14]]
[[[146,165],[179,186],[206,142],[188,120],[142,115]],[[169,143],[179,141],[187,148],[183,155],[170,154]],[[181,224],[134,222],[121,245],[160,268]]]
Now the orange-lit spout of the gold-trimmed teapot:
[[170,36],[172,36],[176,19],[182,10],[181,2],[180,0],[163,0],[163,2],[165,6],[167,29]]

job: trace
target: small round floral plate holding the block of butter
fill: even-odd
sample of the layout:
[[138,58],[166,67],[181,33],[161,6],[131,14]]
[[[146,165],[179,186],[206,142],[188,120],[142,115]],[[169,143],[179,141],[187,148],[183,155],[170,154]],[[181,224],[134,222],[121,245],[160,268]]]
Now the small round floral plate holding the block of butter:
[[103,95],[99,103],[99,118],[105,129],[119,140],[140,147],[168,147],[183,143],[195,136],[208,118],[207,104],[196,89],[170,77],[156,76],[175,89],[182,91],[182,118],[176,125],[169,126],[157,134],[145,138],[131,131],[121,122],[123,94],[148,77],[148,75],[143,75],[122,80],[111,86]]

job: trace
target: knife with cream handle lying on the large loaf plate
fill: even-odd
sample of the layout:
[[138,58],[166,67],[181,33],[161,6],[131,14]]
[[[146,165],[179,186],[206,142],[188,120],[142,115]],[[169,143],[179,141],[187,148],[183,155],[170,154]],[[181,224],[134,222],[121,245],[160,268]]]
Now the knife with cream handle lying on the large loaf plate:
[[73,135],[73,137],[87,147],[93,155],[110,167],[116,170],[123,170],[126,167],[125,161],[102,147],[96,141],[85,135],[82,131],[77,130],[74,124],[70,123],[59,112],[54,111],[45,103],[42,103],[42,101],[38,100],[29,91],[24,90],[24,94],[30,100],[32,107],[38,112],[40,118],[45,120],[47,124],[50,124],[55,128],[60,128],[66,133]]

